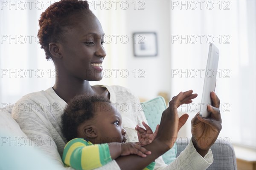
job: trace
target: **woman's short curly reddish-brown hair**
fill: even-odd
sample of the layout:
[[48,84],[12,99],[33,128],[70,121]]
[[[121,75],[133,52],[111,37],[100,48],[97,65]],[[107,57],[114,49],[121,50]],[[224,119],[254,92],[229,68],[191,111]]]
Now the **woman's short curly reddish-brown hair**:
[[87,1],[61,0],[53,3],[41,14],[38,38],[47,60],[51,58],[49,43],[61,41],[65,29],[76,25],[76,21],[71,20],[70,17],[81,13],[93,15]]

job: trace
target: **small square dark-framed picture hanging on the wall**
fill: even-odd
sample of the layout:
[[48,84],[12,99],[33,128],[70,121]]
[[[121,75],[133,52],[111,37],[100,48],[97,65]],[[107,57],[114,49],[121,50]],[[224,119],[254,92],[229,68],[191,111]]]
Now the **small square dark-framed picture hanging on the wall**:
[[134,56],[157,56],[157,33],[135,32],[133,34]]

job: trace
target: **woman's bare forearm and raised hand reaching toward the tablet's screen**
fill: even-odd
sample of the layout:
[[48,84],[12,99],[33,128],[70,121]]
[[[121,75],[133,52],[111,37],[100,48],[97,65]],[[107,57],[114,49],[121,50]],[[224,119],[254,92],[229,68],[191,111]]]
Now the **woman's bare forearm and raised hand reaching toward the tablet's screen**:
[[181,104],[189,104],[197,95],[192,94],[192,90],[180,92],[172,101],[169,102],[169,107],[163,112],[159,130],[156,139],[145,146],[151,151],[151,155],[145,158],[140,158],[135,155],[119,157],[116,159],[117,164],[121,169],[143,169],[151,161],[154,161],[159,156],[168,151],[174,144],[177,138],[178,130],[185,124],[188,115],[185,114],[180,118],[177,115],[177,108]]

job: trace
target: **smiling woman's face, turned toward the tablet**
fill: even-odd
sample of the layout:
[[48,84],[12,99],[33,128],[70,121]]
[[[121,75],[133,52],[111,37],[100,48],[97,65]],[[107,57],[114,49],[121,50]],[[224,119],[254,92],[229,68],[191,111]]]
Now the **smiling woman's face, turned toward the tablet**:
[[68,76],[82,80],[100,81],[102,62],[106,56],[102,46],[102,26],[92,14],[72,18],[77,24],[64,32],[64,40],[60,43],[61,70]]

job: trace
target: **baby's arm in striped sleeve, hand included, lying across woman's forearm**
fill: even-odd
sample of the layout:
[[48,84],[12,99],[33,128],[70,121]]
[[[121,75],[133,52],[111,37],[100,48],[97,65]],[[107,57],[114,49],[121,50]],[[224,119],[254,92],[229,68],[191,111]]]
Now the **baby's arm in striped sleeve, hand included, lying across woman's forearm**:
[[75,138],[66,144],[62,160],[67,166],[84,170],[102,167],[112,159],[130,154],[146,157],[151,152],[136,143],[92,144]]

